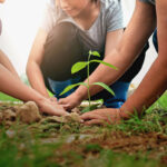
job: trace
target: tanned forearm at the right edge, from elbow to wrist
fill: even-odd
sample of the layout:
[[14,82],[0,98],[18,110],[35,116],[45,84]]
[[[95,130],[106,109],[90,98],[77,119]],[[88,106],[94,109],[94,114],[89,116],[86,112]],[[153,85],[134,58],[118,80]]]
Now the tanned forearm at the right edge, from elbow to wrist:
[[124,114],[139,115],[155,102],[167,88],[167,65],[157,59],[146,77],[139,85],[138,89],[131,95],[120,108]]

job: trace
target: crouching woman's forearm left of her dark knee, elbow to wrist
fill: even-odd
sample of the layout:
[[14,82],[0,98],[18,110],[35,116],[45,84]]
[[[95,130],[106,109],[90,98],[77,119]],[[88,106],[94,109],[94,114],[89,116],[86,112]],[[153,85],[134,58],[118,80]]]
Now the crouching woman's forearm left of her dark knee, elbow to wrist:
[[31,87],[45,97],[49,97],[40,67],[35,61],[28,62],[27,75]]

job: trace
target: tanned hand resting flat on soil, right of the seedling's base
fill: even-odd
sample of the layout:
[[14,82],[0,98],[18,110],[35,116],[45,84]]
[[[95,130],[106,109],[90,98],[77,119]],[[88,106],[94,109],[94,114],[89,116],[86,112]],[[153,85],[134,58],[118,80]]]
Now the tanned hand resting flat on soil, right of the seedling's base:
[[120,109],[106,108],[86,112],[80,116],[85,125],[118,124],[124,118]]

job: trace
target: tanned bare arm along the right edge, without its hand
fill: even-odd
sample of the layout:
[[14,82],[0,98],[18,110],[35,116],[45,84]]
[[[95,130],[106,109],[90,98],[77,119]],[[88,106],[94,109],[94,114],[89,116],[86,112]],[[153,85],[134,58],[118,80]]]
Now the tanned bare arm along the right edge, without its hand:
[[141,112],[167,89],[167,1],[156,1],[159,53],[135,94],[121,107],[122,111]]

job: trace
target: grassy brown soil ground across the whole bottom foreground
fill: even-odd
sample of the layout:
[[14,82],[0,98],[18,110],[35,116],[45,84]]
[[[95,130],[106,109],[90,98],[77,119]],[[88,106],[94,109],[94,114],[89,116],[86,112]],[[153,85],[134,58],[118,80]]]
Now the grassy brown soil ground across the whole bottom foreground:
[[88,127],[76,114],[61,119],[41,116],[35,106],[29,108],[37,117],[28,120],[22,106],[0,104],[2,167],[167,166],[167,94],[141,118],[119,125]]

